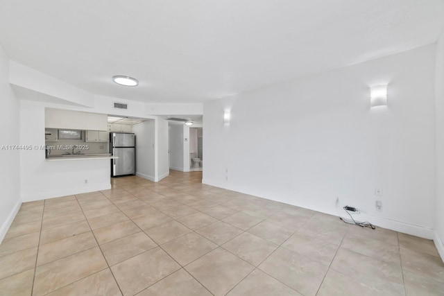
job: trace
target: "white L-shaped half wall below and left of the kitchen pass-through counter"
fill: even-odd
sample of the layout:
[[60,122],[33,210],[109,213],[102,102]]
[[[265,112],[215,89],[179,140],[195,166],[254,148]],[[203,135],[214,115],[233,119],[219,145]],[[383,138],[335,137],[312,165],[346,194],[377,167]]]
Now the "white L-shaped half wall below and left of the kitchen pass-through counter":
[[[44,110],[44,103],[20,101],[22,145],[44,146]],[[109,189],[110,160],[49,162],[44,158],[44,150],[22,150],[20,184],[24,202]]]

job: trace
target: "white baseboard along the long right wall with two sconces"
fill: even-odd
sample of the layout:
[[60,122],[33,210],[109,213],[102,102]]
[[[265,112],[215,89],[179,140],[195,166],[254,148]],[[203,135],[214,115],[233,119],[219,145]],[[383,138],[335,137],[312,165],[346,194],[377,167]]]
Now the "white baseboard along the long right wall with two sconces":
[[[255,196],[258,196],[259,198],[266,198],[268,200],[275,200],[277,202],[284,202],[286,204],[289,204],[288,201],[282,201],[282,200],[279,200],[278,198],[271,199],[266,196],[257,195],[255,193],[248,192],[243,189],[239,189],[234,184],[229,184],[227,181],[222,180],[222,179],[216,180],[216,179],[203,178],[202,183],[210,185],[210,186],[219,187],[222,189],[227,189],[227,190],[231,190],[231,191],[237,191],[240,193],[255,195]],[[300,204],[292,204],[292,205],[294,205],[296,207],[301,207]],[[330,209],[319,209],[319,208],[316,209],[314,207],[306,207],[306,208],[311,209],[313,211],[320,211],[325,214],[338,216],[338,213],[336,212],[336,209],[334,207],[332,207],[331,210]],[[348,217],[344,216],[344,218],[348,218]],[[391,229],[391,230],[394,230],[395,232],[402,232],[404,234],[411,234],[413,236],[419,236],[421,238],[434,239],[434,230],[431,228],[428,228],[428,227],[423,227],[420,225],[414,225],[414,224],[405,223],[402,221],[392,220],[392,219],[383,218],[383,217],[377,217],[377,216],[369,215],[366,213],[361,213],[361,214],[359,214],[359,216],[353,216],[353,218],[355,218],[355,220],[359,220],[360,222],[367,221],[367,222],[372,223],[373,225],[383,227],[386,229]]]

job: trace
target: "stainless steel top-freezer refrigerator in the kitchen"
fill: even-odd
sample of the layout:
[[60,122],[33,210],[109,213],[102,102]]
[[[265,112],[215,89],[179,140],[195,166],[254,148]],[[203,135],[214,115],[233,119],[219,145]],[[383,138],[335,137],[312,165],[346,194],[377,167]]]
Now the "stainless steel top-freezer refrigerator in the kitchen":
[[118,159],[111,159],[111,177],[135,175],[136,136],[123,132],[110,133],[110,151]]

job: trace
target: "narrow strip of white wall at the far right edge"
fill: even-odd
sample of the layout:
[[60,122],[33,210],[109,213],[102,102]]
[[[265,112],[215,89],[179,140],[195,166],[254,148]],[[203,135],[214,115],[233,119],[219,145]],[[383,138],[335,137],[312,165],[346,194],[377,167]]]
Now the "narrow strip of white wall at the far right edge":
[[435,132],[436,132],[436,220],[435,245],[444,260],[444,32],[436,46]]

